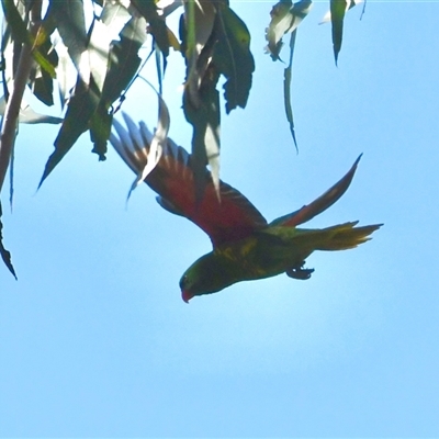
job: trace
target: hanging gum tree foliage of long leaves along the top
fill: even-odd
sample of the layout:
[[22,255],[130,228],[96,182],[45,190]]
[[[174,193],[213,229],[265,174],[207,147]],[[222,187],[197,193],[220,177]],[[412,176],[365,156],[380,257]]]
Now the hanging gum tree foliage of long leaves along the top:
[[[330,0],[333,45],[337,63],[345,12],[354,0]],[[251,90],[255,60],[250,33],[228,0],[1,0],[4,25],[1,40],[3,114],[0,138],[0,190],[13,157],[19,123],[60,124],[40,185],[86,132],[92,151],[105,159],[114,113],[145,65],[140,48],[156,55],[159,82],[159,121],[153,142],[154,157],[138,176],[142,181],[160,158],[169,130],[169,111],[162,101],[162,76],[170,50],[184,58],[183,112],[193,127],[192,167],[194,191],[203,192],[209,165],[219,184],[221,105],[228,114],[244,109]],[[267,52],[280,60],[285,34],[291,34],[290,61],[284,72],[284,106],[295,142],[291,106],[292,60],[295,35],[312,7],[311,0],[281,0],[271,11]],[[179,37],[167,24],[168,16],[182,11]],[[147,58],[147,59],[148,59]],[[183,75],[182,75],[183,77]],[[224,78],[223,97],[217,89]],[[31,92],[46,106],[59,104],[61,116],[35,112],[25,101]],[[135,183],[135,184],[136,184]],[[134,185],[135,185],[134,184]],[[38,187],[40,187],[38,185]],[[133,185],[133,187],[134,187]],[[1,227],[1,223],[0,223]],[[4,262],[13,272],[2,246]]]

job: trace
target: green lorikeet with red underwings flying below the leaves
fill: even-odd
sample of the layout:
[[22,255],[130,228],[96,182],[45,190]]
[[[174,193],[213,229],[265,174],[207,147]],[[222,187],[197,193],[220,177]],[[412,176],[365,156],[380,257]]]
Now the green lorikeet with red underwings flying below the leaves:
[[[117,121],[110,140],[120,156],[139,173],[148,160],[153,134],[124,114],[127,130]],[[304,268],[314,250],[345,250],[369,240],[382,224],[356,227],[358,222],[323,229],[297,228],[334,204],[352,181],[356,160],[348,173],[322,196],[299,211],[267,223],[262,214],[236,189],[219,181],[219,198],[212,176],[205,169],[205,187],[195,198],[191,156],[170,138],[145,182],[159,194],[158,203],[169,212],[187,217],[211,238],[213,250],[202,256],[180,280],[184,302],[195,295],[216,293],[233,283],[286,273],[308,279],[314,269]]]

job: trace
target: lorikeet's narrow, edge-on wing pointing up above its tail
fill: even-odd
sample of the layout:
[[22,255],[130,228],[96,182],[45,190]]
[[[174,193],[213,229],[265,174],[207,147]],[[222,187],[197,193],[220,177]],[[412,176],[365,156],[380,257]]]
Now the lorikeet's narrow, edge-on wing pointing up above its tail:
[[331,206],[349,188],[350,182],[352,181],[353,175],[356,173],[358,162],[360,161],[362,155],[358,157],[356,162],[349,169],[347,175],[329,188],[323,195],[318,199],[314,200],[312,203],[304,205],[299,211],[290,213],[289,215],[281,216],[280,218],[274,219],[270,223],[270,226],[285,226],[285,227],[295,227],[299,224],[306,223],[314,216],[320,214],[326,211],[329,206]]

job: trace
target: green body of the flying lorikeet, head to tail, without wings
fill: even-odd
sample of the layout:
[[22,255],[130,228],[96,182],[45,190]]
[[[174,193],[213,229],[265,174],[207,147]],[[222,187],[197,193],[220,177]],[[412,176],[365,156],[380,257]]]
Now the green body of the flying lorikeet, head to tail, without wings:
[[[223,244],[198,259],[183,274],[180,286],[215,293],[236,282],[286,273],[308,279],[314,270],[303,269],[315,250],[344,250],[367,240],[379,226],[354,228],[354,223],[328,228],[268,226],[247,238]],[[185,297],[189,300],[189,296]]]

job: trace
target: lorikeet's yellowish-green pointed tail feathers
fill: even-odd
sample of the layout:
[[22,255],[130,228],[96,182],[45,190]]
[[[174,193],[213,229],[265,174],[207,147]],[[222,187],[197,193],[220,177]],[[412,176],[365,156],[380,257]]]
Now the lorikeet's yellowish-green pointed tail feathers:
[[314,248],[327,251],[348,250],[371,239],[370,235],[382,226],[382,224],[373,224],[356,227],[358,221],[315,230]]

